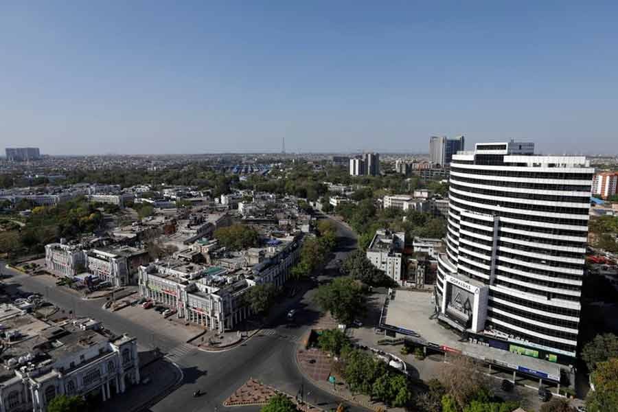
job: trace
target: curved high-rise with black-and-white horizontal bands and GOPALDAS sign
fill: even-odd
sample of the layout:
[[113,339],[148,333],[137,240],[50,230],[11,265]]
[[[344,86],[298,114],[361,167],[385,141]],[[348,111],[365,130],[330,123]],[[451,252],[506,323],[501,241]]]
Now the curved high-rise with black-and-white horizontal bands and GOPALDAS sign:
[[512,352],[575,357],[593,173],[532,143],[454,155],[438,318]]

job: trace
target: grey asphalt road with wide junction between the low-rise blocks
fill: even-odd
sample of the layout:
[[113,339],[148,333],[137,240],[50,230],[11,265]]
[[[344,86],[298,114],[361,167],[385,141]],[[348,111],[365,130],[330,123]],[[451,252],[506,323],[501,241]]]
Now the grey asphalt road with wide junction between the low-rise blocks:
[[[338,229],[338,246],[334,258],[329,262],[320,277],[338,275],[336,261],[345,258],[347,253],[356,248],[356,235],[353,231],[335,222]],[[38,292],[56,306],[73,310],[78,316],[89,316],[99,319],[106,328],[115,333],[127,333],[135,336],[141,345],[158,346],[163,352],[174,354],[172,360],[182,369],[183,385],[151,408],[154,412],[220,412],[231,410],[222,407],[222,402],[240,385],[257,378],[267,385],[272,385],[290,394],[296,394],[304,384],[305,398],[308,402],[319,404],[324,409],[336,407],[339,399],[332,394],[314,387],[310,382],[304,382],[295,359],[297,342],[311,328],[312,322],[319,317],[319,311],[311,300],[313,290],[305,284],[304,293],[286,302],[287,308],[299,308],[296,325],[288,325],[285,321],[285,310],[279,319],[263,334],[253,336],[246,345],[235,347],[227,352],[202,352],[189,347],[183,341],[158,336],[156,325],[147,328],[120,317],[113,312],[101,308],[101,301],[82,301],[79,297],[61,288],[49,288],[41,284],[36,277],[22,275],[12,271],[2,264],[1,271],[12,276],[6,283],[21,284],[23,290]],[[201,389],[204,393],[199,398],[193,398],[192,393]],[[259,407],[242,407],[241,411],[259,411]],[[366,411],[361,407],[350,407],[350,411]]]

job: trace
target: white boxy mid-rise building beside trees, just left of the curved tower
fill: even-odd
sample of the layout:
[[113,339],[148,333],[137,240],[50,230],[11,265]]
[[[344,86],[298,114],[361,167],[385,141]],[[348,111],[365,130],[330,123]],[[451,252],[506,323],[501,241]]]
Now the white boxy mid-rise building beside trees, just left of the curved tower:
[[376,231],[367,248],[367,259],[398,284],[402,284],[402,253],[406,234],[385,229]]

